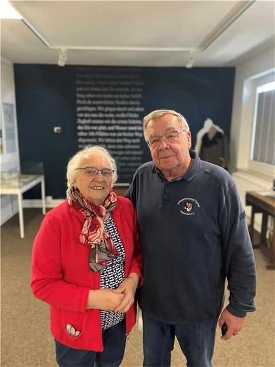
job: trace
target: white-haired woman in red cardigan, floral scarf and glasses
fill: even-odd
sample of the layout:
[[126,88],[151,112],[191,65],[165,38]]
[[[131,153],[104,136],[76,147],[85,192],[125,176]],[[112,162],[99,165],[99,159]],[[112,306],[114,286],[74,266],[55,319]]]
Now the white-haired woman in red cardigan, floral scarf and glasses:
[[118,366],[141,285],[136,214],[112,189],[112,156],[87,147],[69,161],[67,201],[47,213],[32,258],[34,295],[49,303],[60,366]]

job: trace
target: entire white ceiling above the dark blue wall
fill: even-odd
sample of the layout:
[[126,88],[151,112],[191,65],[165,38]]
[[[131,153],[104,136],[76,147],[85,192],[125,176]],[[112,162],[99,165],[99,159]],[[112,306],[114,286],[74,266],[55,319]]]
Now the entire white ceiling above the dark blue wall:
[[1,20],[13,63],[57,64],[66,48],[67,65],[225,67],[274,44],[274,1],[10,3],[23,17]]

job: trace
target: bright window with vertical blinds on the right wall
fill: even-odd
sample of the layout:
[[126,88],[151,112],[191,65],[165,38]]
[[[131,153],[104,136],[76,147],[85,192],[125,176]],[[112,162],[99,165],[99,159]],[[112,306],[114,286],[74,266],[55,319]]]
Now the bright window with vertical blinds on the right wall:
[[275,82],[256,88],[250,159],[275,165]]

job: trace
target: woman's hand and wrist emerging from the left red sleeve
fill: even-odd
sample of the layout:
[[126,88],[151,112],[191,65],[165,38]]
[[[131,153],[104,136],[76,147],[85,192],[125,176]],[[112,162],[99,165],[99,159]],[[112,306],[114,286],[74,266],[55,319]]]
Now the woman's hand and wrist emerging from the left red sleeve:
[[123,293],[113,293],[111,289],[103,288],[99,290],[90,290],[87,308],[102,309],[113,311],[124,298]]

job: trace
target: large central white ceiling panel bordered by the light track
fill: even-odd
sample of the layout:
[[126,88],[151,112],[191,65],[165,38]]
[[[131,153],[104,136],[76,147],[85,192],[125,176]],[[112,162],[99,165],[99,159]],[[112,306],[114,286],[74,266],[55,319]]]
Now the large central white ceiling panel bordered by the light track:
[[51,46],[187,48],[199,45],[236,3],[13,2]]

